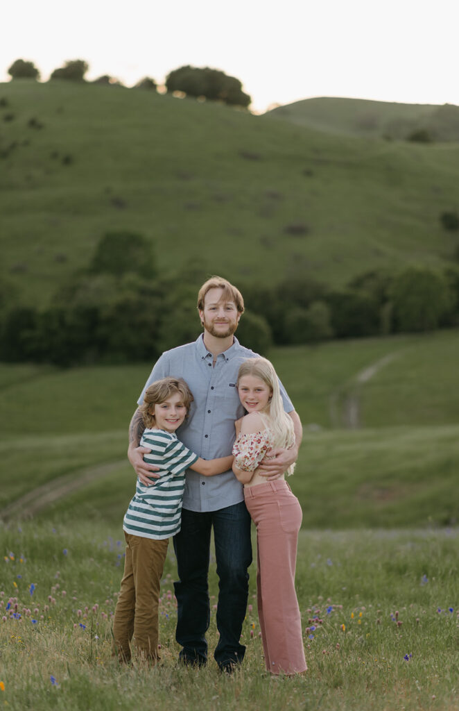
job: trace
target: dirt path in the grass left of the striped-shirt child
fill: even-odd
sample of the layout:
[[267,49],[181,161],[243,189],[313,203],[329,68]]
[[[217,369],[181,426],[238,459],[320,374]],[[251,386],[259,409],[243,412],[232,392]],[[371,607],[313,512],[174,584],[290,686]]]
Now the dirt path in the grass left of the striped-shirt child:
[[84,469],[72,471],[71,474],[59,476],[53,481],[48,481],[42,486],[28,491],[24,496],[0,510],[0,521],[8,523],[15,518],[33,518],[36,513],[49,506],[50,503],[69,496],[92,481],[103,479],[104,476],[112,474],[121,466],[126,466],[126,458],[97,464],[97,466],[87,466]]

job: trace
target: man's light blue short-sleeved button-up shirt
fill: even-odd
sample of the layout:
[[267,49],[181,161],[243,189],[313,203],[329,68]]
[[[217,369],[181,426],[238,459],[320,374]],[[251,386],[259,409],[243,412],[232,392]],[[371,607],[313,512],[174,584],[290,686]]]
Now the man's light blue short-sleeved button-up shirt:
[[[155,380],[183,378],[193,393],[188,418],[177,430],[178,439],[202,459],[229,456],[234,444],[234,421],[244,415],[237,395],[236,380],[239,365],[246,358],[257,358],[257,353],[241,346],[237,338],[224,353],[213,355],[207,351],[202,334],[194,343],[186,343],[166,351],[156,361],[144,390],[137,401],[144,402],[144,392]],[[294,407],[284,386],[281,387],[284,410]],[[242,484],[231,470],[217,476],[202,476],[188,469],[186,472],[183,508],[191,511],[215,511],[244,501]]]

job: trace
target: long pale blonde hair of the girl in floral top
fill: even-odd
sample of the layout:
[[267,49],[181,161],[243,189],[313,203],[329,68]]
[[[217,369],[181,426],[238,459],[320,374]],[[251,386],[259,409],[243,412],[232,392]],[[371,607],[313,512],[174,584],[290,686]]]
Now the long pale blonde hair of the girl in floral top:
[[[266,427],[269,427],[273,434],[272,446],[285,449],[293,447],[295,444],[293,420],[284,410],[279,378],[274,370],[274,365],[266,358],[247,358],[239,367],[237,387],[239,387],[239,380],[244,375],[254,375],[255,378],[260,378],[272,391],[268,404],[264,410],[260,411],[261,418],[266,422]],[[295,469],[295,464],[288,467],[287,474],[293,474],[293,469]]]

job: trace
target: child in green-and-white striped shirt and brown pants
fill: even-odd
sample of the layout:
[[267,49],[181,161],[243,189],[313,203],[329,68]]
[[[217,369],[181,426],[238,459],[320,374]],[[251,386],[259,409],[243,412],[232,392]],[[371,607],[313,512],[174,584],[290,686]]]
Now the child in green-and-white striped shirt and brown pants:
[[188,415],[193,395],[181,378],[162,378],[145,392],[140,410],[146,429],[141,446],[151,449],[144,459],[156,464],[161,477],[151,486],[137,480],[136,494],[124,516],[124,575],[113,622],[114,653],[131,659],[134,635],[139,656],[158,658],[158,603],[168,538],[180,530],[185,469],[203,476],[222,474],[232,456],[201,459],[177,439],[175,430]]

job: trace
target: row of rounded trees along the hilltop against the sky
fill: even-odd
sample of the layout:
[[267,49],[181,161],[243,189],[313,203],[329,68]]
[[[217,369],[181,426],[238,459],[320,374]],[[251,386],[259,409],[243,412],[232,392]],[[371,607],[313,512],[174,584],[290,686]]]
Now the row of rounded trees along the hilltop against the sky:
[[[74,82],[85,81],[85,74],[89,65],[82,59],[65,62],[63,67],[55,69],[50,75],[50,80],[63,79]],[[33,62],[16,59],[8,70],[11,79],[36,79],[40,72]],[[121,85],[114,77],[103,75],[96,79],[95,84]],[[135,85],[139,89],[156,91],[157,85],[151,77],[144,77]],[[212,101],[221,101],[231,106],[247,108],[251,97],[242,91],[242,83],[236,77],[230,77],[218,69],[210,67],[198,68],[186,65],[173,70],[166,77],[168,93],[183,92],[190,97],[205,97]]]

